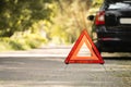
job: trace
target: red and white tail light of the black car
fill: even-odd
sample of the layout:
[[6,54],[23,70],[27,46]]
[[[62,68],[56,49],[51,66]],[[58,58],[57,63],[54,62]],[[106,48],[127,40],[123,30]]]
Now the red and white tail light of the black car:
[[96,14],[95,24],[96,25],[104,25],[105,24],[105,11],[100,11]]

